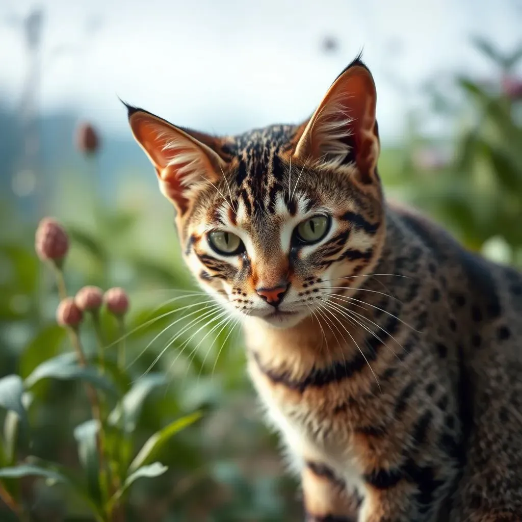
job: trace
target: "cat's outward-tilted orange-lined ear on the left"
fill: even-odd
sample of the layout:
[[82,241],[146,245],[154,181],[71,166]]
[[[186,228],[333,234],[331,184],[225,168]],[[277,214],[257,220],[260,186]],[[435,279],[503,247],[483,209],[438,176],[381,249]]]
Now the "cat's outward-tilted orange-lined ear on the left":
[[215,183],[226,166],[212,148],[215,138],[203,133],[192,136],[186,129],[129,105],[127,110],[134,138],[154,165],[161,192],[183,215],[191,190],[205,181]]

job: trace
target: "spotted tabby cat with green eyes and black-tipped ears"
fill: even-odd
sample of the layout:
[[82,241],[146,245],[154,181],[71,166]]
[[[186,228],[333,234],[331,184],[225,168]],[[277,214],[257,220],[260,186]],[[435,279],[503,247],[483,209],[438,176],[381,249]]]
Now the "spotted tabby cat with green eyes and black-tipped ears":
[[306,520],[522,520],[522,277],[383,198],[358,57],[234,137],[128,106],[188,266],[241,317]]

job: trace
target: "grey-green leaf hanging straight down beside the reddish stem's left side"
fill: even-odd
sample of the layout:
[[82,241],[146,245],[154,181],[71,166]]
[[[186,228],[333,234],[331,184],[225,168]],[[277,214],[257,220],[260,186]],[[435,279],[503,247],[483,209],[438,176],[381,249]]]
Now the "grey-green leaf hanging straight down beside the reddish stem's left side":
[[96,420],[88,420],[74,429],[74,438],[78,444],[78,456],[87,473],[89,495],[97,503],[101,503],[100,461],[98,457],[97,437],[100,424]]

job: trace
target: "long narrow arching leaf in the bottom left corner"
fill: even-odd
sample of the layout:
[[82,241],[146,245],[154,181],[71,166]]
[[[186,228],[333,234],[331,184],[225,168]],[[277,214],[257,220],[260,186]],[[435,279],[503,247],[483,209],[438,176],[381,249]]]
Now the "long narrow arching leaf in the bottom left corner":
[[51,484],[57,482],[65,484],[89,506],[97,522],[104,522],[104,515],[100,506],[93,502],[89,494],[82,488],[81,484],[70,475],[68,470],[41,459],[31,458],[31,460],[37,462],[37,464],[20,464],[8,468],[0,468],[0,478],[18,479],[22,477],[42,477],[47,479]]

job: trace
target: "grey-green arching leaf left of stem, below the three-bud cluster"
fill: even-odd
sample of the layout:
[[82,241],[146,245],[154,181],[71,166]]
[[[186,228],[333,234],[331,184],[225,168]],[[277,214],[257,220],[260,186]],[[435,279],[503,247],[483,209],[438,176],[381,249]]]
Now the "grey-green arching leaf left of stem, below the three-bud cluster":
[[29,389],[44,378],[81,379],[106,392],[115,393],[114,385],[105,376],[100,375],[92,366],[78,366],[74,363],[75,360],[75,353],[65,353],[43,362],[26,378],[26,387]]

